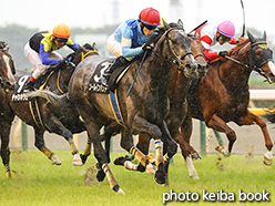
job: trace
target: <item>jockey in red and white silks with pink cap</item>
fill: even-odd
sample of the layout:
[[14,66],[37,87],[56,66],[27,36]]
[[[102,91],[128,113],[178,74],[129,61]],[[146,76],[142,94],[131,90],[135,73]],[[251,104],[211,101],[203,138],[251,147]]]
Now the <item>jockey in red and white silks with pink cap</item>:
[[225,42],[236,44],[235,25],[231,21],[223,21],[217,27],[204,24],[195,30],[195,35],[200,38],[204,47],[204,58],[210,61],[217,56],[227,55],[227,51],[215,51],[211,47],[220,43],[223,45]]

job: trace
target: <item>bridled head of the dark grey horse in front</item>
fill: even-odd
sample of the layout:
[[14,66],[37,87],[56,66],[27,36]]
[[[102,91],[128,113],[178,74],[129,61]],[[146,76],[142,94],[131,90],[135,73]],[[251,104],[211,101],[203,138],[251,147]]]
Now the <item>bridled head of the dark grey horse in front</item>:
[[[191,40],[183,29],[182,22],[177,24],[164,23],[164,33],[156,43],[155,49],[161,50],[164,59],[176,65],[184,75],[196,76],[197,63],[191,51]],[[166,43],[164,43],[166,42]]]

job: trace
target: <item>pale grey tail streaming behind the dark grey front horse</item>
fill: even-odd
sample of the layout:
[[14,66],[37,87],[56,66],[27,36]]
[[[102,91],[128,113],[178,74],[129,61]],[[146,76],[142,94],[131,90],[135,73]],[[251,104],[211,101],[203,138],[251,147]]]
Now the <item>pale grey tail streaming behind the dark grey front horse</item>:
[[26,96],[28,99],[32,99],[32,97],[45,99],[48,102],[50,102],[54,106],[64,106],[64,104],[67,104],[69,102],[68,101],[69,100],[68,93],[62,94],[62,95],[58,95],[58,94],[54,94],[53,92],[51,92],[49,90],[37,90],[33,92],[27,93]]

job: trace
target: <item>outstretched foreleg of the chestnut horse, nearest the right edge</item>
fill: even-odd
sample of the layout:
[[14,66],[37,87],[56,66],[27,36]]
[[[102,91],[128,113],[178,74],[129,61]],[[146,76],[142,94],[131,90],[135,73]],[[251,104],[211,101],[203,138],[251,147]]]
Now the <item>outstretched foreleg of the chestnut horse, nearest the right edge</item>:
[[267,131],[266,122],[261,116],[257,116],[257,115],[253,114],[252,112],[247,111],[247,115],[242,117],[242,119],[240,119],[240,125],[251,125],[251,124],[257,124],[261,127],[262,133],[264,135],[264,140],[265,140],[265,146],[267,148],[267,152],[264,154],[263,162],[266,165],[272,165],[272,159],[273,159],[272,147],[273,147],[273,143],[272,143],[269,133]]

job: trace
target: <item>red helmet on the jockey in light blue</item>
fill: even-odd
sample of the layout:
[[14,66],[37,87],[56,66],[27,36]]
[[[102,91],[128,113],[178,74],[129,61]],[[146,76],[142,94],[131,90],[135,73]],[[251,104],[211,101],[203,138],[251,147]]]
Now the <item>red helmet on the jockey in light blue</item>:
[[160,13],[153,8],[143,9],[140,13],[139,20],[146,25],[157,27],[161,24]]

